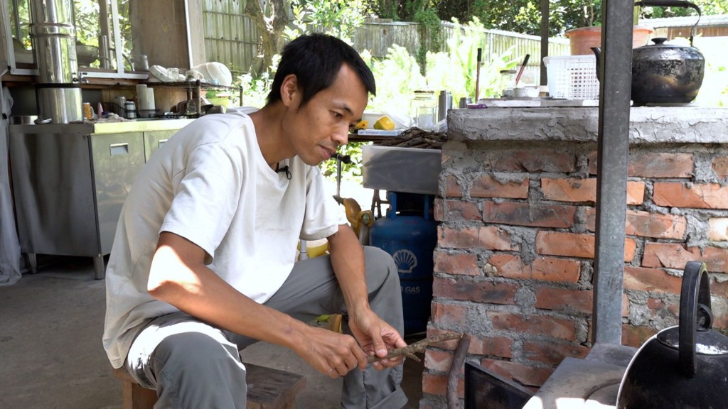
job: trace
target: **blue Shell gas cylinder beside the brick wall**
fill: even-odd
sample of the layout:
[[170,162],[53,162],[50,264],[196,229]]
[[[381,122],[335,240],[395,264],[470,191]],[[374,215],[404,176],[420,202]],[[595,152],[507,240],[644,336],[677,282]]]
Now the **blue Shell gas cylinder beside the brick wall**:
[[369,244],[395,260],[402,287],[405,334],[427,330],[432,303],[432,253],[438,242],[434,196],[387,192],[389,210],[371,226]]

